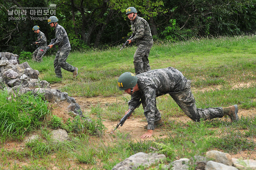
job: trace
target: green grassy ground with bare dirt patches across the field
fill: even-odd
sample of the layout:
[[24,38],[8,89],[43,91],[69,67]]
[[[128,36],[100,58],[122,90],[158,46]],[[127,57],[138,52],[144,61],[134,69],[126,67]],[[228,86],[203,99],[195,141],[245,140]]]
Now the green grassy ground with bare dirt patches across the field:
[[[33,69],[39,70],[40,80],[60,83],[60,90],[68,92],[69,96],[84,97],[84,100],[92,96],[115,96],[118,100],[106,103],[105,106],[100,102],[89,106],[90,111],[84,113],[94,118],[89,125],[79,117],[68,120],[66,124],[57,117],[44,123],[40,119],[33,119],[30,123],[22,121],[27,131],[28,129],[32,131],[36,127],[41,128],[37,133],[42,139],[26,144],[23,150],[1,148],[0,168],[112,169],[114,165],[137,152],[158,152],[165,154],[168,157],[167,161],[173,161],[193,155],[204,156],[205,152],[213,149],[230,154],[247,152],[250,159],[250,153],[255,150],[255,116],[239,115],[240,121],[235,123],[229,123],[224,119],[183,123],[178,117],[184,113],[169,95],[157,98],[158,109],[165,121],[161,131],[167,136],[166,138],[155,137],[154,141],[136,141],[130,138],[129,133],[119,130],[113,135],[104,134],[102,121],[120,120],[127,109],[127,101],[131,98],[118,90],[117,79],[123,72],[134,72],[133,54],[136,47],[124,48],[122,51],[119,49],[119,47],[113,47],[104,51],[71,53],[67,62],[79,68],[79,75],[75,79],[72,78],[72,73],[65,70],[62,71],[62,80],[55,77],[54,56],[44,57],[42,63],[28,61]],[[150,51],[149,61],[152,69],[172,66],[191,79],[192,92],[198,108],[227,107],[238,104],[239,109],[255,110],[255,36],[222,37],[179,43],[158,42]],[[248,85],[241,85],[247,83]],[[17,111],[18,116],[23,112],[27,115],[28,111],[32,110],[38,110],[33,113],[42,113],[39,111],[42,109],[39,107],[41,101],[30,98],[28,102],[18,102],[16,99],[15,104],[14,101],[7,101],[7,96],[4,93],[0,95],[1,109],[26,106],[22,107],[22,112]],[[0,117],[2,124],[7,122],[3,121],[4,117],[10,116],[6,114],[7,111],[3,113]],[[41,116],[41,114],[38,115]],[[24,114],[21,116],[25,117]],[[142,106],[136,109],[133,116],[144,119]],[[172,117],[177,119],[170,119]],[[17,117],[9,119],[14,119],[17,124],[21,123]],[[2,124],[1,134],[5,134]],[[27,131],[22,131],[23,126],[19,131],[22,138],[28,134]],[[57,127],[66,129],[71,139],[59,144],[52,141],[48,133],[49,128]],[[98,127],[103,133],[95,133],[94,127]],[[13,128],[9,129],[13,130]],[[10,133],[5,134],[1,141],[6,141],[6,138],[22,139],[15,133]],[[21,162],[27,164],[21,165]]]

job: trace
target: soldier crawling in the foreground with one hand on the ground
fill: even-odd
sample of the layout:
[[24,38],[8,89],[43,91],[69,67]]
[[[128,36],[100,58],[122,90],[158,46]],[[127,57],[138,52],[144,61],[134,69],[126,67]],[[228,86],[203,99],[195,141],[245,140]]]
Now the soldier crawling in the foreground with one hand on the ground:
[[190,84],[190,80],[187,80],[179,70],[172,67],[150,70],[136,76],[126,72],[119,77],[119,90],[124,90],[125,93],[131,95],[131,100],[128,102],[129,109],[134,107],[140,99],[142,101],[144,116],[148,122],[148,131],[141,138],[151,137],[155,127],[164,124],[156,107],[156,97],[165,94],[169,94],[193,121],[225,115],[231,118],[231,122],[238,121],[238,106],[236,104],[227,108],[197,108]]

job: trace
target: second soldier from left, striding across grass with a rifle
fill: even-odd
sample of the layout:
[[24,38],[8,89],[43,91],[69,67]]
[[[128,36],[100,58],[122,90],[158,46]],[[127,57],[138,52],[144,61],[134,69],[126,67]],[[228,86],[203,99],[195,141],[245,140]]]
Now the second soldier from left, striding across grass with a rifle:
[[57,23],[58,20],[59,19],[56,16],[51,16],[48,18],[48,24],[50,24],[51,27],[54,27],[55,36],[57,38],[55,43],[48,46],[52,48],[53,45],[58,45],[58,48],[59,48],[59,50],[56,53],[55,59],[53,61],[55,74],[56,74],[56,77],[62,78],[61,68],[63,68],[64,70],[72,72],[73,77],[75,78],[78,75],[78,68],[66,62],[69,52],[71,50],[71,46],[69,43],[67,32],[62,26],[60,26]]

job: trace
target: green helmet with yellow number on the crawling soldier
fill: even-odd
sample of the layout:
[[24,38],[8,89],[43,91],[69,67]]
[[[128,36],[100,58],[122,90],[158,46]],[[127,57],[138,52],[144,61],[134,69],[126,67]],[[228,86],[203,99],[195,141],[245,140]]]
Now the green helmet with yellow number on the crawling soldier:
[[138,78],[131,72],[125,72],[118,78],[119,90],[126,90],[135,87]]

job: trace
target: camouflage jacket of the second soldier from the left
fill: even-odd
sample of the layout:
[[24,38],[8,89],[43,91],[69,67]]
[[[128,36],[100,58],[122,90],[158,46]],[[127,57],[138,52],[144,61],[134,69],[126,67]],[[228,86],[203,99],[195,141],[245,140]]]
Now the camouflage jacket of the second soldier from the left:
[[55,41],[55,43],[53,43],[53,45],[58,45],[59,50],[61,51],[71,50],[69,37],[67,36],[67,32],[65,31],[63,26],[57,24],[54,31],[57,40]]

